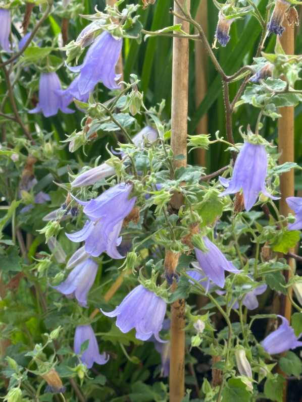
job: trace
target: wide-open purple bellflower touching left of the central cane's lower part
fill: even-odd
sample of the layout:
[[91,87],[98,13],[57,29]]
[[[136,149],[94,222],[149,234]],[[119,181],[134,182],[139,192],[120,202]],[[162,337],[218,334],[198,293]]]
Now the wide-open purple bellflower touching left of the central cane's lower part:
[[116,325],[123,333],[135,328],[137,339],[147,340],[154,334],[159,342],[164,342],[159,331],[166,313],[166,302],[142,285],[136,286],[111,313],[101,311],[108,317],[117,317]]

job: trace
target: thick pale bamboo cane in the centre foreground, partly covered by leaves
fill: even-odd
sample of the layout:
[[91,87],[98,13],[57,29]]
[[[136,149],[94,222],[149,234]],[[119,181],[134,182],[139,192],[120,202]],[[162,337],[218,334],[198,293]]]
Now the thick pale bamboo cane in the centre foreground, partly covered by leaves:
[[[185,1],[180,0],[184,5]],[[190,1],[187,2],[190,7]],[[174,10],[181,11],[174,3]],[[174,24],[182,24],[182,29],[189,32],[189,24],[174,16]],[[187,159],[187,112],[188,112],[188,69],[189,43],[188,39],[173,38],[172,65],[172,111],[171,111],[171,147],[174,155],[183,154],[182,160],[174,161],[174,168],[186,166]],[[179,194],[174,194],[172,206],[177,210],[183,200]],[[176,290],[176,282],[173,290]],[[180,402],[184,397],[184,328],[185,301],[179,299],[171,305],[171,359],[170,359],[170,402]]]

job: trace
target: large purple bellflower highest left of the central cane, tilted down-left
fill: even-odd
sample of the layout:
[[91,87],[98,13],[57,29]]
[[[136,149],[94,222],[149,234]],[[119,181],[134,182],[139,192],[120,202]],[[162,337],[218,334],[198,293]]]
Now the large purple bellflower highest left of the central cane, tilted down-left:
[[100,80],[109,89],[119,88],[116,80],[120,75],[115,73],[115,65],[121,49],[122,39],[114,39],[110,33],[103,32],[89,47],[82,65],[67,66],[70,71],[80,72],[78,84],[80,94],[92,91]]

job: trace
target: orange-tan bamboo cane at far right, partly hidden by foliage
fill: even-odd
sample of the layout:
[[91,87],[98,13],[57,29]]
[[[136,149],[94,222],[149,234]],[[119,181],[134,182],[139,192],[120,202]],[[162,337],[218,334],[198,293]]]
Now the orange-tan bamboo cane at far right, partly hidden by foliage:
[[[294,30],[287,23],[285,25],[286,29],[280,38],[280,42],[286,54],[294,54]],[[294,161],[294,107],[280,107],[279,113],[282,115],[278,120],[279,152],[282,152],[279,158],[279,164],[282,164],[284,162]],[[279,201],[279,211],[281,215],[287,216],[289,212],[293,213],[286,203],[286,198],[294,195],[293,169],[283,173],[280,177],[280,191],[281,199]],[[294,249],[290,249],[289,252],[294,252]],[[287,263],[291,267],[293,266],[293,260],[291,258],[288,258]],[[286,281],[288,281],[290,271],[284,271],[284,275]],[[292,292],[292,289],[290,289],[290,292]],[[283,295],[280,300],[280,314],[290,322],[291,303],[289,298]],[[283,392],[284,401],[286,401],[286,391],[287,386]]]

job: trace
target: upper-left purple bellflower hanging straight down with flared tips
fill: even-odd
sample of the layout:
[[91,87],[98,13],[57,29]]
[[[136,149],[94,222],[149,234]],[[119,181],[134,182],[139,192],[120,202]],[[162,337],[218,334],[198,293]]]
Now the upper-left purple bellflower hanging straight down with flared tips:
[[73,113],[63,104],[62,95],[58,94],[61,90],[59,77],[56,73],[42,73],[39,82],[39,102],[37,106],[29,110],[29,113],[39,113],[42,111],[45,117],[54,116],[61,109],[63,113]]

